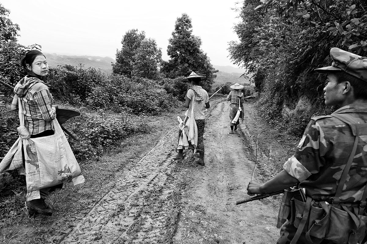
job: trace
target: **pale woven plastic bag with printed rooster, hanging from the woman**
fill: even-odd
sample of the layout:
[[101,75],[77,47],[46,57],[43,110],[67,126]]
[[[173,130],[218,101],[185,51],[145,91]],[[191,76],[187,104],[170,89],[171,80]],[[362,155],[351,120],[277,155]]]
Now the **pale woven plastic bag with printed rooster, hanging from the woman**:
[[52,120],[55,134],[23,139],[27,182],[26,200],[40,198],[40,189],[71,180],[84,183],[84,176],[58,121]]

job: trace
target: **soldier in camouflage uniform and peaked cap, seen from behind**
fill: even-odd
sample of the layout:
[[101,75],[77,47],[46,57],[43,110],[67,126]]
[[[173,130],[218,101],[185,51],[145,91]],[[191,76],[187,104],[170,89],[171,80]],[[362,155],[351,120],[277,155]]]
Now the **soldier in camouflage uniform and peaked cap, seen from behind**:
[[247,187],[249,195],[297,183],[305,189],[304,202],[284,194],[291,211],[285,214],[288,221],[280,230],[279,244],[365,241],[367,58],[339,48],[331,48],[330,56],[333,64],[315,71],[327,74],[325,105],[339,109],[313,117],[284,169],[264,184],[251,181]]

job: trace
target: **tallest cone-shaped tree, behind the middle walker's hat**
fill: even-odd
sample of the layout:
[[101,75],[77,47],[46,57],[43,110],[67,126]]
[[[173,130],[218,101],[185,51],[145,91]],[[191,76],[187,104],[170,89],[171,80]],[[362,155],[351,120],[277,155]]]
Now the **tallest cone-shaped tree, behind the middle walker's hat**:
[[200,48],[201,39],[192,34],[191,19],[187,14],[177,18],[175,30],[169,40],[167,54],[170,60],[163,61],[161,72],[168,78],[187,76],[191,71],[205,76],[203,88],[209,90],[217,77],[207,54]]

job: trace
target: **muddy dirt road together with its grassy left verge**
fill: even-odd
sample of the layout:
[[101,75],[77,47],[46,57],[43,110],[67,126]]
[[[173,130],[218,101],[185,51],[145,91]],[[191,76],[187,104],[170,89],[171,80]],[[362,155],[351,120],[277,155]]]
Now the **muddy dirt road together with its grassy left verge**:
[[66,183],[48,196],[51,217],[28,217],[23,207],[24,213],[8,213],[11,220],[0,219],[0,243],[275,243],[281,196],[235,202],[248,197],[251,179],[263,182],[279,172],[298,141],[270,127],[252,102],[244,110],[245,123],[230,135],[229,102],[211,100],[205,166],[196,164],[192,151],[173,161],[175,114],[145,118],[156,131],[134,135],[117,152],[83,162],[84,184]]

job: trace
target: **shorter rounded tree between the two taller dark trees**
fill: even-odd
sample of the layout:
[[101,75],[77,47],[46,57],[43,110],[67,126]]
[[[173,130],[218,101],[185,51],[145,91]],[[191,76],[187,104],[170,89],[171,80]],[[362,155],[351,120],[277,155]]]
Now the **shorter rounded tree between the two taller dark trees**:
[[154,39],[144,39],[137,49],[134,59],[132,76],[147,79],[158,78],[158,67],[162,61],[162,51],[160,48],[157,48],[157,43]]

